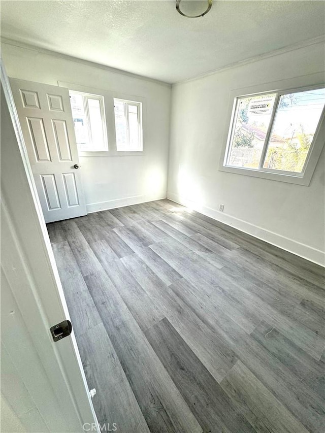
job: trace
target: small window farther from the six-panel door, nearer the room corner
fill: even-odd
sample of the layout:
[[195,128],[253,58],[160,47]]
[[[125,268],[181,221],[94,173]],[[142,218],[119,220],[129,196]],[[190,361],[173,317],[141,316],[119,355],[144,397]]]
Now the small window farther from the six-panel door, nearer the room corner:
[[114,98],[117,151],[142,151],[142,103]]

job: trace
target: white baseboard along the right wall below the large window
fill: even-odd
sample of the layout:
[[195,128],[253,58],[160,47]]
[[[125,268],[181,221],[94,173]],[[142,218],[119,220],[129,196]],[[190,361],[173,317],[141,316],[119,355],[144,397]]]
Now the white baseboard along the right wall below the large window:
[[270,231],[263,227],[251,224],[224,212],[219,212],[207,206],[198,205],[197,203],[191,202],[188,199],[184,199],[173,192],[168,191],[167,198],[172,202],[187,206],[210,218],[237,228],[248,235],[254,236],[257,239],[261,239],[262,241],[268,242],[269,244],[275,245],[276,247],[282,248],[285,251],[296,254],[299,257],[303,257],[324,267],[325,253],[321,250],[310,247],[306,244],[302,244],[301,242],[295,241],[293,239],[286,238],[285,236],[279,235],[274,231]]

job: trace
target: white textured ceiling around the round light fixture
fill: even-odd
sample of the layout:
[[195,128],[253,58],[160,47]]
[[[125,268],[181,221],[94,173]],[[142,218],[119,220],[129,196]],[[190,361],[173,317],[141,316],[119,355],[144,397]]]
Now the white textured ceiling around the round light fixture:
[[[198,12],[207,2],[181,2]],[[2,36],[175,83],[324,33],[323,1],[2,1]]]

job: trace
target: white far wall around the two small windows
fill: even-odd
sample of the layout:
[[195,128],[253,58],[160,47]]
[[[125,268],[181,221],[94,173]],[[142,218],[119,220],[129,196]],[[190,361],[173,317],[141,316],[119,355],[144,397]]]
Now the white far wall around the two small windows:
[[2,44],[2,57],[9,77],[52,85],[75,83],[145,98],[143,155],[80,158],[88,212],[166,197],[169,85],[7,43]]

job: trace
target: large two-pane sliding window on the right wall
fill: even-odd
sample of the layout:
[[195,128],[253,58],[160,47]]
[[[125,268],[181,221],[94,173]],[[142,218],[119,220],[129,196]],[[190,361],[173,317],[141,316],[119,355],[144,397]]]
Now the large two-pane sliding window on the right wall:
[[324,105],[325,88],[236,97],[223,166],[303,178]]

